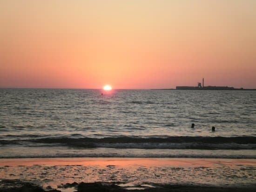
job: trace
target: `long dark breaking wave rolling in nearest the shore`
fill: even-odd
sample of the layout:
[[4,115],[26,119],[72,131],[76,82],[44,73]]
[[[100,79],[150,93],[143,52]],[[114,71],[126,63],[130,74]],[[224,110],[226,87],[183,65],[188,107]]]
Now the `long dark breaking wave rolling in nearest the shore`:
[[168,137],[168,138],[40,138],[1,140],[1,145],[52,144],[75,148],[136,149],[256,149],[256,137]]

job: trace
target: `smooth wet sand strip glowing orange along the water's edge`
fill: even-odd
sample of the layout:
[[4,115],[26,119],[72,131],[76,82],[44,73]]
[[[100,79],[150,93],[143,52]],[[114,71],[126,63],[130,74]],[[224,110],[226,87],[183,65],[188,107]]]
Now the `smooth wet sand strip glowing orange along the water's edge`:
[[24,158],[0,159],[0,166],[33,166],[33,165],[61,166],[214,166],[220,165],[247,165],[256,166],[256,159],[196,159],[196,158]]

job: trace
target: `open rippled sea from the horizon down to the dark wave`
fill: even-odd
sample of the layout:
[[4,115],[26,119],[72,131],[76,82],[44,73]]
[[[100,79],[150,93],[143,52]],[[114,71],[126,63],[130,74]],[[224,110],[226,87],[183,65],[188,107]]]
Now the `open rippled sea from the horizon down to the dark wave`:
[[256,135],[256,91],[101,92],[0,89],[1,139]]

